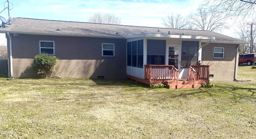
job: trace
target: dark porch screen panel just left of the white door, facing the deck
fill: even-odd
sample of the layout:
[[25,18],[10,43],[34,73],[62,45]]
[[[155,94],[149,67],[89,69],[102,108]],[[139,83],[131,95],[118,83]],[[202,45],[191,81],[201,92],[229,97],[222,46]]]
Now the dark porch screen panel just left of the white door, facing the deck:
[[166,40],[147,40],[147,65],[164,65]]

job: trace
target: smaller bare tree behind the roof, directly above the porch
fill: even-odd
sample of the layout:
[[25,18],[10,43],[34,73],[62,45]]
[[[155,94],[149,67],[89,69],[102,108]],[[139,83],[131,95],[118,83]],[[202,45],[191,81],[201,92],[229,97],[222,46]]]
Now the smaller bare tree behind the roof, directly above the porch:
[[188,29],[187,18],[184,18],[180,14],[168,14],[165,19],[163,19],[163,25],[166,28],[174,29]]

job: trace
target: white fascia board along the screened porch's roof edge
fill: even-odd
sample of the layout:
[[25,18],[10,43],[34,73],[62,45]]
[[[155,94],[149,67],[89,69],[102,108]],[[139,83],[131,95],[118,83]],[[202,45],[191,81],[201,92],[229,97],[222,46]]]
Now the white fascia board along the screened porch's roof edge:
[[206,39],[213,40],[215,37],[208,36],[191,36],[191,35],[169,35],[169,34],[140,34],[125,36],[125,38],[136,38],[136,37],[158,37],[158,38],[174,38],[174,39]]

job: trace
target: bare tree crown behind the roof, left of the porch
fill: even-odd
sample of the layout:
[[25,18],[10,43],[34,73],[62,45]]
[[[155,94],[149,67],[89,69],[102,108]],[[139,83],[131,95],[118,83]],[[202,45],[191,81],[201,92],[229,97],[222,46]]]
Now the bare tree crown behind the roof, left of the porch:
[[106,24],[116,24],[119,25],[121,23],[120,18],[115,16],[114,14],[101,14],[96,13],[90,16],[88,22],[91,23],[106,23]]

